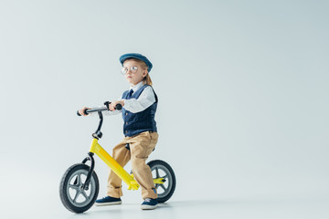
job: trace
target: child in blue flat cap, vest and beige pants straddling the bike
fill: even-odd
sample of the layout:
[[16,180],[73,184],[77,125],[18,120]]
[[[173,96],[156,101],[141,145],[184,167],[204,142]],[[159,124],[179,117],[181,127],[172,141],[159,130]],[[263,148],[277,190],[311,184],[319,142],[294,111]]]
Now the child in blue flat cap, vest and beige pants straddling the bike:
[[[157,193],[151,169],[145,163],[158,141],[154,120],[158,99],[149,76],[153,65],[147,57],[138,53],[124,54],[120,62],[122,75],[129,82],[130,89],[123,92],[121,99],[111,101],[108,106],[110,111],[105,113],[114,115],[122,112],[124,121],[124,138],[112,149],[112,157],[122,167],[132,161],[134,179],[142,188],[144,201],[141,208],[155,209]],[[117,104],[122,105],[122,110],[115,110]],[[84,107],[79,113],[87,116],[85,110],[90,108]],[[122,179],[115,172],[110,172],[107,188],[107,196],[96,200],[96,205],[121,204]]]

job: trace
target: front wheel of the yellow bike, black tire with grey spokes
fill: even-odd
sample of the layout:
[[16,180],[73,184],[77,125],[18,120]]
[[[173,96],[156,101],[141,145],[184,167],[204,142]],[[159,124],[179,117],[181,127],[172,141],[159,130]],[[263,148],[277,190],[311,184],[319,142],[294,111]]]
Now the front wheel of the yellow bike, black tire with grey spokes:
[[60,200],[73,213],[83,213],[90,209],[99,193],[100,184],[96,172],[92,172],[89,189],[81,189],[89,170],[90,167],[86,164],[74,164],[64,173],[60,181]]

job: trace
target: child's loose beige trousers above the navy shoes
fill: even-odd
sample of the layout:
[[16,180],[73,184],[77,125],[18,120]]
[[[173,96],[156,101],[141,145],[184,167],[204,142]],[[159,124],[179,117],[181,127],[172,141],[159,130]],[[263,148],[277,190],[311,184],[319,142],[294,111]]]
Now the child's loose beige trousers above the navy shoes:
[[[143,199],[157,198],[151,169],[145,163],[157,140],[157,132],[144,131],[133,137],[124,138],[112,151],[113,159],[122,167],[132,160],[133,177],[142,188]],[[125,148],[126,143],[130,144],[130,151]],[[112,171],[108,178],[108,195],[114,198],[122,196],[122,179]]]

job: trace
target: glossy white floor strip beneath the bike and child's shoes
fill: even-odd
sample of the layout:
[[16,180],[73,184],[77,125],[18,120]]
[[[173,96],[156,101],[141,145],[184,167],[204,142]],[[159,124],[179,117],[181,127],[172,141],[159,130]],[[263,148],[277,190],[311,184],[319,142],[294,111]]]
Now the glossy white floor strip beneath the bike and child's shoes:
[[[54,200],[55,201],[55,200]],[[59,200],[48,203],[28,203],[18,200],[9,208],[2,209],[1,218],[252,218],[292,219],[329,218],[329,200],[182,200],[161,203],[151,211],[142,211],[140,203],[123,203],[112,206],[93,206],[83,214],[69,212]],[[25,203],[27,202],[27,203]]]

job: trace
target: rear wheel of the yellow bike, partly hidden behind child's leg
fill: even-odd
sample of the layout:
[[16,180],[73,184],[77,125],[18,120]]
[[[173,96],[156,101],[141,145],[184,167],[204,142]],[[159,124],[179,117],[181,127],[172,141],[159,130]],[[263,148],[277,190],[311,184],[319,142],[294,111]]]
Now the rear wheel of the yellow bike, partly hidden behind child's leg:
[[164,184],[155,184],[158,203],[165,203],[175,192],[175,172],[170,165],[164,161],[155,160],[148,162],[154,178],[164,178]]

